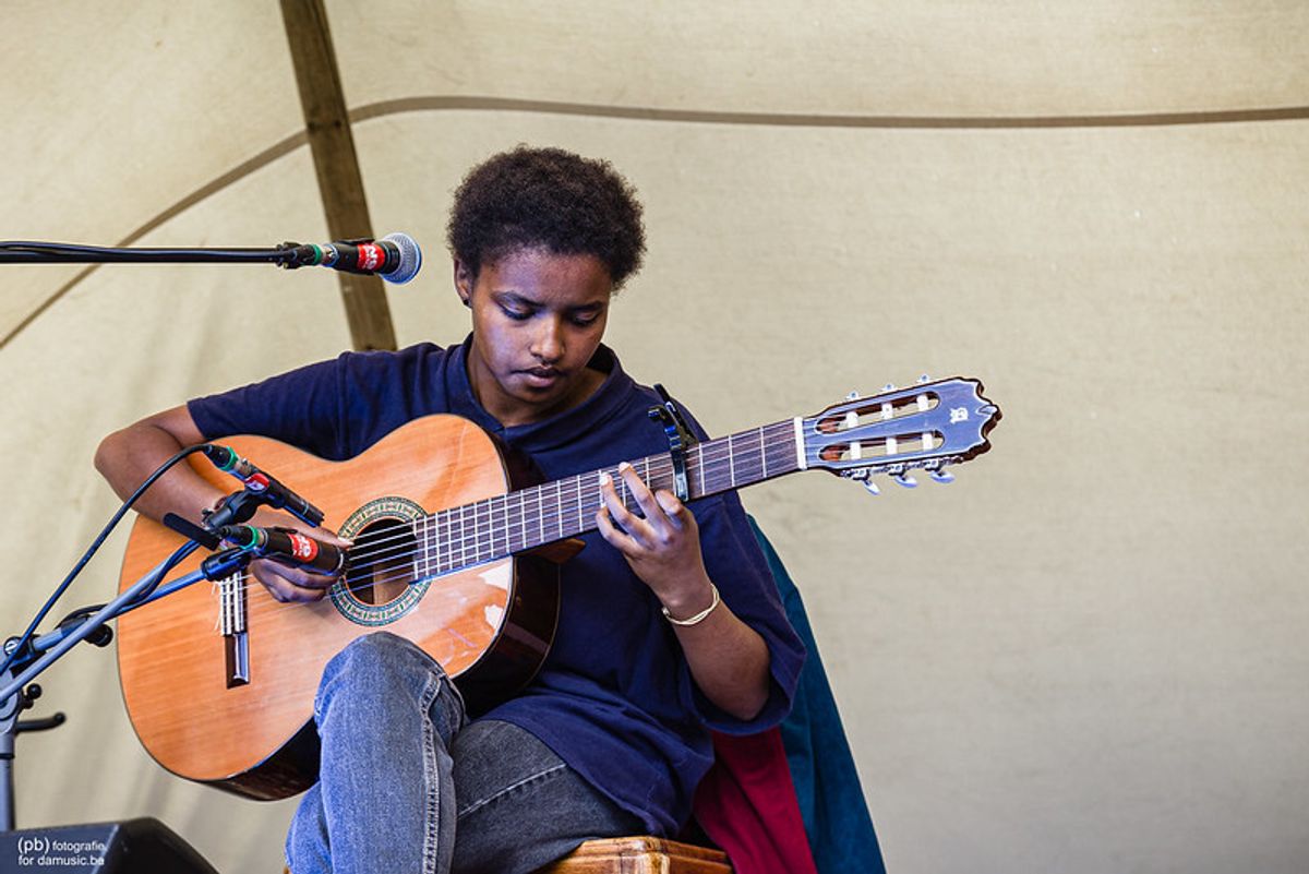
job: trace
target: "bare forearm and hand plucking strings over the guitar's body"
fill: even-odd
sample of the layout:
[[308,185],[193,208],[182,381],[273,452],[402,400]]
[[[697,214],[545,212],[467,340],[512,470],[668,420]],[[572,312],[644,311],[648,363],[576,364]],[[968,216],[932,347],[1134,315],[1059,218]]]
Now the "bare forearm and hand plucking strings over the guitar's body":
[[[173,407],[148,416],[101,441],[96,450],[96,470],[114,492],[126,498],[145,478],[183,446],[204,442],[204,436],[185,407]],[[200,478],[188,464],[178,464],[161,476],[136,502],[136,509],[162,519],[166,513],[200,521],[202,510],[212,508],[225,492]],[[350,546],[326,529],[304,529],[296,519],[272,510],[259,510],[254,525],[284,525],[306,530],[313,538],[335,546]],[[278,601],[317,601],[331,585],[331,577],[288,568],[275,561],[254,561],[250,570]]]

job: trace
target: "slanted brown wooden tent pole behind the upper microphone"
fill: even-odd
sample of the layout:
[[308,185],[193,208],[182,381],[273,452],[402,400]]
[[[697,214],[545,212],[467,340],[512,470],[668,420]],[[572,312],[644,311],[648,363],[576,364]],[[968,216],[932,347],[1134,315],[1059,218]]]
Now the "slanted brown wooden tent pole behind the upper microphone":
[[[332,239],[373,237],[355,137],[346,114],[340,71],[322,0],[281,0],[281,18],[305,111],[318,191]],[[338,273],[346,319],[356,349],[394,349],[395,328],[377,276]]]

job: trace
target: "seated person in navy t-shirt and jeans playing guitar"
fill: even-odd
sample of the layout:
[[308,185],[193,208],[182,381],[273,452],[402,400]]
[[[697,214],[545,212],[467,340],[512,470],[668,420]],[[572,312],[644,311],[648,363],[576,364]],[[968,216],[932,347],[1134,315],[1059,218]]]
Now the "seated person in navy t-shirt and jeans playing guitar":
[[[658,395],[601,343],[640,266],[640,215],[607,162],[497,154],[466,177],[449,222],[473,315],[463,344],[344,353],[194,399],[110,434],[96,464],[127,495],[185,445],[260,434],[336,461],[429,413],[474,421],[546,480],[666,453],[647,415]],[[709,729],[753,733],[785,716],[804,650],[736,495],[689,508],[631,466],[620,480],[601,484],[598,531],[560,569],[554,646],[514,697],[470,721],[441,666],[386,632],[327,663],[319,781],[287,837],[295,874],[512,874],[592,837],[674,836],[712,760]],[[141,509],[198,521],[219,497],[183,466]],[[253,523],[295,525],[271,512]],[[319,599],[332,582],[251,569],[280,602]]]

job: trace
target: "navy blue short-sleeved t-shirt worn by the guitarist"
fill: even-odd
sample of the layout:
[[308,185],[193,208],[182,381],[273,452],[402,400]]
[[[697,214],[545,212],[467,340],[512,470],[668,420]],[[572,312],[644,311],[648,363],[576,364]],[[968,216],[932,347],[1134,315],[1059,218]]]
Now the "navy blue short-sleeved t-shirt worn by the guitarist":
[[[547,481],[668,451],[662,427],[647,413],[658,395],[634,382],[607,347],[590,362],[607,376],[584,403],[505,428],[473,394],[469,344],[347,352],[191,400],[188,408],[206,438],[259,434],[330,461],[352,458],[420,416],[456,413],[529,455]],[[691,428],[704,438],[694,420]],[[526,729],[662,835],[675,833],[690,816],[695,786],[713,760],[708,729],[749,734],[781,721],[804,662],[804,645],[787,623],[737,496],[700,498],[690,508],[709,578],[768,646],[772,687],[759,716],[741,722],[700,693],[654,594],[593,531],[562,568],[559,628],[539,674],[482,717]]]

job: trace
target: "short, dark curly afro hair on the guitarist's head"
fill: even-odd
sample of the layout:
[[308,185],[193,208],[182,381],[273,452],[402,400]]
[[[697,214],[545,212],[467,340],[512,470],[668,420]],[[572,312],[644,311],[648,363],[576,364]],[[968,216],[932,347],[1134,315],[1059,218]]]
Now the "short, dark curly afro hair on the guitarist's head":
[[520,249],[594,255],[618,289],[641,266],[636,190],[607,161],[520,145],[473,167],[454,192],[450,251],[474,277]]

